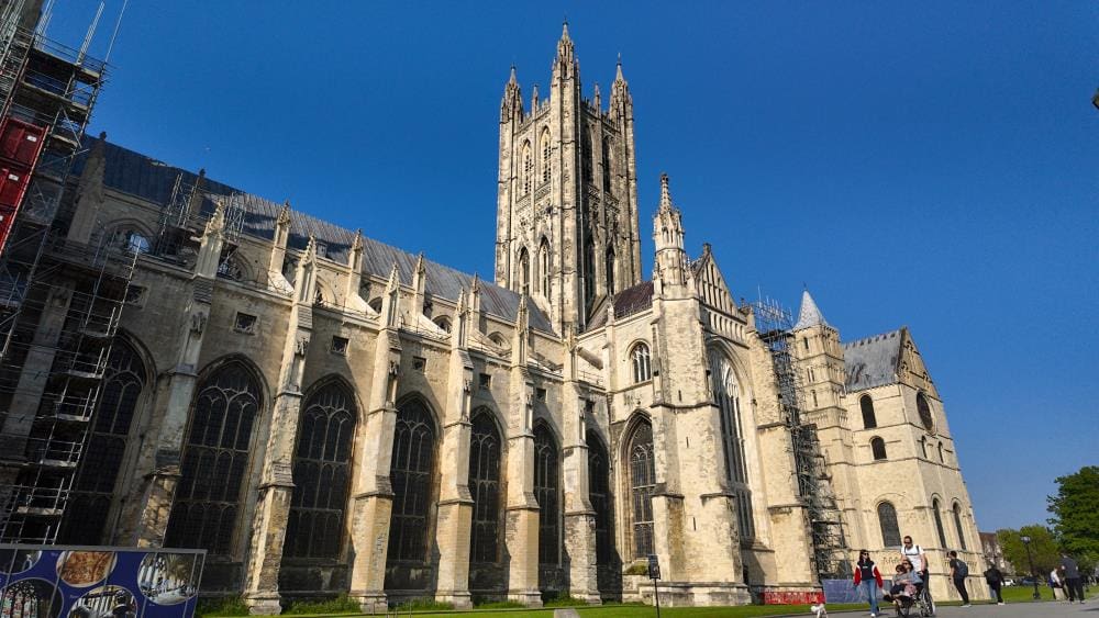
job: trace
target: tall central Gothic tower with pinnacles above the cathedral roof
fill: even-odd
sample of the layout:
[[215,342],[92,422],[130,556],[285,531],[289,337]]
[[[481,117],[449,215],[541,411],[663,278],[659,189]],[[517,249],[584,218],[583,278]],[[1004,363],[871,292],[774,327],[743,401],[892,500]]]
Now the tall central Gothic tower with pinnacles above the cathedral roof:
[[531,109],[511,78],[500,104],[496,282],[528,294],[560,334],[584,330],[618,291],[641,282],[633,100],[619,60],[603,110],[584,99],[566,23],[550,98]]

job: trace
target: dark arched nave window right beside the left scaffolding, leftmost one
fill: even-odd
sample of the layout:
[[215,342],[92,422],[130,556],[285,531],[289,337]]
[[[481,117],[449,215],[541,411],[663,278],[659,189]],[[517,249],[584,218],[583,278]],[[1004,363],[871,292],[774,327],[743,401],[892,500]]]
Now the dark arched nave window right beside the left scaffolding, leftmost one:
[[[124,339],[111,345],[107,373],[92,416],[91,430],[80,458],[73,492],[65,508],[60,542],[110,544],[104,535],[114,485],[122,470],[130,427],[137,415],[145,387],[145,364],[137,350]],[[60,408],[60,414],[82,416],[82,411]]]

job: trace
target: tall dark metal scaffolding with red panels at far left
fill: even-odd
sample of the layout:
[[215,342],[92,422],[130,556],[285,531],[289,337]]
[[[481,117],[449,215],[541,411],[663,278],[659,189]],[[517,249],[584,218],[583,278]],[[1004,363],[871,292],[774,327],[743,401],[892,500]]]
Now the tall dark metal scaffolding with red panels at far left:
[[25,27],[37,15],[22,4],[0,14],[0,542],[53,543],[140,250],[118,234],[66,237],[57,215],[76,205],[73,162],[107,66],[87,41]]

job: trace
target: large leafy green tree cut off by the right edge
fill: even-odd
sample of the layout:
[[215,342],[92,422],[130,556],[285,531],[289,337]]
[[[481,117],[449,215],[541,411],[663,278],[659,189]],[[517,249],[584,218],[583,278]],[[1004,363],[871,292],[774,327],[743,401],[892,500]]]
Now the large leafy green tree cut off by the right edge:
[[1094,566],[1099,562],[1099,465],[1085,465],[1056,482],[1057,495],[1047,498],[1050,524],[1062,549],[1081,566]]

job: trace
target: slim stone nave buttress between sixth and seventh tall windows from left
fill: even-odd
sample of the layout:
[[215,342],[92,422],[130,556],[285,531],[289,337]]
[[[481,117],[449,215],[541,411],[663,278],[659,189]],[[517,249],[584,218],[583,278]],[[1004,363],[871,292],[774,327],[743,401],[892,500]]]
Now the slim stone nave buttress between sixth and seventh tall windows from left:
[[569,595],[601,603],[596,568],[596,512],[588,495],[586,397],[576,375],[576,334],[565,341],[565,383],[562,387],[564,431],[565,552],[568,554]]

